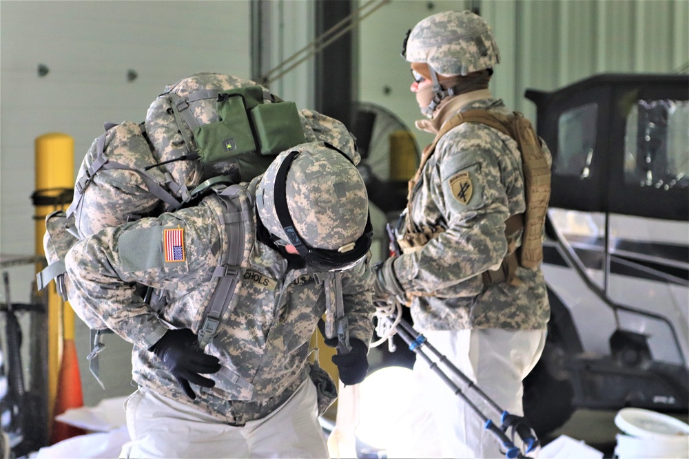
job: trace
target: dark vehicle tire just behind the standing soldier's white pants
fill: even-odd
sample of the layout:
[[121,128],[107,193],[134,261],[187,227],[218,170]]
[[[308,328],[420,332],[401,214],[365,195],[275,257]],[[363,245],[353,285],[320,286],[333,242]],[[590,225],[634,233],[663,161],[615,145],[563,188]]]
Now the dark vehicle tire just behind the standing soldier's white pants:
[[543,442],[575,412],[574,389],[568,378],[555,378],[548,365],[561,351],[546,343],[543,356],[524,379],[524,419]]

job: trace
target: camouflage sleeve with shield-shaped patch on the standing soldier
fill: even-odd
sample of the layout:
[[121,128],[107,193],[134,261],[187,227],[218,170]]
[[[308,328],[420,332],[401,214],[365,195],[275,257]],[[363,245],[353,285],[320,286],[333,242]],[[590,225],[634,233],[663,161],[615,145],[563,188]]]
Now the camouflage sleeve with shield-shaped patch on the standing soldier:
[[439,143],[431,185],[423,192],[433,196],[446,228],[422,250],[395,260],[395,275],[407,292],[474,296],[483,288],[480,274],[500,265],[509,211],[495,155],[504,148],[497,134],[474,123]]

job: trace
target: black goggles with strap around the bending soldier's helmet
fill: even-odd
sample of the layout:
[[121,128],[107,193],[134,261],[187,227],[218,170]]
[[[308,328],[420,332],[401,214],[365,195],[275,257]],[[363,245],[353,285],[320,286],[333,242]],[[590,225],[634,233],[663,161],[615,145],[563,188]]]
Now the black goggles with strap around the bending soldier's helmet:
[[[342,156],[345,156],[349,162],[352,162],[349,156],[342,153],[332,145],[325,143],[327,147],[338,151]],[[282,226],[282,231],[285,231],[290,244],[292,244],[299,256],[306,261],[307,266],[318,271],[340,271],[353,268],[369,253],[371,242],[373,240],[373,226],[371,226],[371,215],[364,226],[364,233],[356,239],[354,247],[347,252],[340,253],[338,250],[327,250],[323,248],[312,248],[307,246],[299,235],[292,217],[289,215],[287,209],[287,171],[294,158],[299,154],[298,151],[291,151],[282,160],[282,164],[278,168],[275,177],[275,185],[273,189],[275,211]],[[353,162],[352,162],[353,164]]]

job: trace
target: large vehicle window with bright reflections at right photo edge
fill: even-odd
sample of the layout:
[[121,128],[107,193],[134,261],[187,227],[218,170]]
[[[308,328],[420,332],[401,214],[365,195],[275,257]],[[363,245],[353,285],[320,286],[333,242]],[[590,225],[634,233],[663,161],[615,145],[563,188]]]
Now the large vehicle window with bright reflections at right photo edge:
[[689,186],[689,102],[637,100],[627,116],[626,184],[657,189]]

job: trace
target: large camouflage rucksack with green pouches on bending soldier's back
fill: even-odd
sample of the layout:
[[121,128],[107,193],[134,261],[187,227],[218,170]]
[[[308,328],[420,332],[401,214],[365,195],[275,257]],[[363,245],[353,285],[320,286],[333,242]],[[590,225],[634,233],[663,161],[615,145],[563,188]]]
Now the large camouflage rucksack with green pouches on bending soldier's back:
[[[316,111],[299,111],[253,81],[200,73],[167,86],[150,105],[145,122],[107,124],[105,133],[92,142],[68,211],[46,217],[48,267],[37,275],[39,289],[55,279],[67,299],[64,257],[79,239],[192,205],[216,182],[247,182],[263,173],[278,153],[305,142],[327,142],[355,164],[360,160],[342,122]],[[107,325],[83,314],[79,317],[92,329],[89,359],[97,370],[94,357]]]

